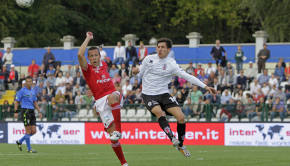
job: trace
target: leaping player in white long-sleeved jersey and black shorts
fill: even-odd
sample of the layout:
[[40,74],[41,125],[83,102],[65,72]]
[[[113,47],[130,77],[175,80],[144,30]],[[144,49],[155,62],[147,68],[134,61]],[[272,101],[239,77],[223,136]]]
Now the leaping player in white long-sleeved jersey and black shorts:
[[[146,108],[157,117],[160,127],[169,137],[173,146],[185,157],[190,157],[190,152],[183,145],[186,128],[184,114],[175,97],[169,94],[168,84],[171,82],[172,76],[177,75],[194,85],[205,88],[210,93],[215,93],[215,89],[186,73],[174,59],[168,57],[171,47],[170,39],[159,39],[156,48],[157,54],[145,57],[140,69],[134,68],[133,73],[139,73],[142,78],[142,98]],[[166,114],[173,115],[177,120],[178,139],[171,131]]]

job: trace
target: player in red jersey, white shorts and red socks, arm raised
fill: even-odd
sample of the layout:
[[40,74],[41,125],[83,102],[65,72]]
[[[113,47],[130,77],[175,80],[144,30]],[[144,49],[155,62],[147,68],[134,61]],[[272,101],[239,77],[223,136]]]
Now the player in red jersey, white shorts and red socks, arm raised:
[[78,52],[78,60],[86,82],[95,98],[94,109],[99,113],[106,132],[110,134],[112,148],[120,160],[121,165],[128,166],[122,147],[118,141],[121,138],[120,101],[122,97],[115,89],[107,71],[106,62],[101,61],[98,47],[88,49],[88,60],[90,63],[87,63],[85,51],[88,43],[92,39],[93,33],[87,32],[86,39]]

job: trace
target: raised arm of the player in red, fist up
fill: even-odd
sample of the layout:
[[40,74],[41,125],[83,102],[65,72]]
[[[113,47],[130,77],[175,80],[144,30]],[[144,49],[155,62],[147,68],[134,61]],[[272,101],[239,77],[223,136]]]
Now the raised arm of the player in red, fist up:
[[85,52],[86,52],[86,48],[90,42],[90,40],[93,39],[93,33],[92,32],[87,32],[87,37],[84,40],[83,44],[81,45],[81,47],[79,48],[79,52],[78,52],[78,59],[79,59],[79,63],[82,69],[87,70],[88,68],[88,63],[87,63],[87,59],[85,57]]

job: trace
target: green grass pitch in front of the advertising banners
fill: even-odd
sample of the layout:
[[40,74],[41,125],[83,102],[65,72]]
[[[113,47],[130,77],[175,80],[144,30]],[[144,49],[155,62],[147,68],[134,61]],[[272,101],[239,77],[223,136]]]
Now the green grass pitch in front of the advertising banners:
[[[32,145],[20,152],[0,144],[1,166],[120,166],[110,145]],[[25,150],[25,145],[23,145]],[[185,158],[169,145],[123,145],[129,166],[290,166],[289,147],[188,146]]]

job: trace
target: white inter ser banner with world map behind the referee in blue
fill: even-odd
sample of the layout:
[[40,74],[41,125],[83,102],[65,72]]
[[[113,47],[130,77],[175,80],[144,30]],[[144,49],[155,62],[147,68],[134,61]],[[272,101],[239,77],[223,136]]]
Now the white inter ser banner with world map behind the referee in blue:
[[[84,144],[84,123],[37,123],[32,144]],[[25,134],[23,123],[8,123],[8,143],[15,143]]]

